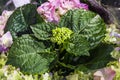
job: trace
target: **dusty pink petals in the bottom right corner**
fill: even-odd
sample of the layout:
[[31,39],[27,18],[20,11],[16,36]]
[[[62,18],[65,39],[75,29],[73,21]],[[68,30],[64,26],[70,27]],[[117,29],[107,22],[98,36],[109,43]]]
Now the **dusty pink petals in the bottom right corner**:
[[113,80],[115,73],[111,67],[99,69],[94,73],[94,80]]

